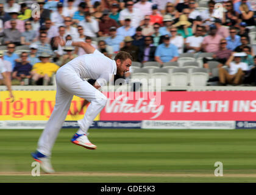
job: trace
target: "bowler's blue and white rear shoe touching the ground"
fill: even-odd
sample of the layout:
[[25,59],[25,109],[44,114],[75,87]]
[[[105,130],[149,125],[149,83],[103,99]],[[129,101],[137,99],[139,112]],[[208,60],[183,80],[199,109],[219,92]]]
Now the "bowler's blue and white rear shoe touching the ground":
[[35,161],[38,161],[38,163],[40,163],[40,167],[41,169],[43,169],[44,172],[46,173],[55,172],[51,165],[51,159],[48,156],[41,154],[41,152],[38,152],[38,151],[31,153],[31,155]]

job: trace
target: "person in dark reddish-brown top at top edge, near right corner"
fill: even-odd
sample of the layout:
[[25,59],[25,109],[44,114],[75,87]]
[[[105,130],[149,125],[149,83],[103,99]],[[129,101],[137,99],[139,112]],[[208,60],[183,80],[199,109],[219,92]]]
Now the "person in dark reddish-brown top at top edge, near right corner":
[[227,1],[225,4],[225,9],[227,10],[224,13],[223,25],[224,26],[235,26],[238,22],[238,13],[235,12],[232,1]]

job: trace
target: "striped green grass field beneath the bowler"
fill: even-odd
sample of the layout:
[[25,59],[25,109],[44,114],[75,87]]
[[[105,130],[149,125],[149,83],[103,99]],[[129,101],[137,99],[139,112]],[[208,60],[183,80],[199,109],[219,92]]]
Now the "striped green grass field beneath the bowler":
[[90,129],[95,151],[70,143],[74,132],[57,138],[56,173],[32,177],[41,130],[0,130],[0,182],[256,182],[256,130]]

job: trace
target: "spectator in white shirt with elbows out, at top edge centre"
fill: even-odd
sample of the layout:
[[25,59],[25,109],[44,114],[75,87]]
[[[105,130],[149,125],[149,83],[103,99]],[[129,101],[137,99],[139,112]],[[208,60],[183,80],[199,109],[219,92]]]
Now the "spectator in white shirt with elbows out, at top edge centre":
[[133,7],[133,1],[129,0],[126,2],[126,9],[123,9],[119,14],[119,22],[124,26],[124,19],[129,17],[132,20],[131,26],[136,28],[140,26],[143,16],[144,15],[141,13],[141,10]]

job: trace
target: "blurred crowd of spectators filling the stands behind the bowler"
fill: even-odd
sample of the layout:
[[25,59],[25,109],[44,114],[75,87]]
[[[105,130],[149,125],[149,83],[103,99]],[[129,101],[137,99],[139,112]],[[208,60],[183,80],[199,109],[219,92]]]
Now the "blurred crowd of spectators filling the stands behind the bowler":
[[160,66],[207,52],[203,67],[218,62],[221,85],[255,85],[255,7],[255,0],[6,0],[0,59],[13,85],[51,85],[60,66],[85,54],[60,45],[67,40],[111,59],[127,51],[134,62]]

